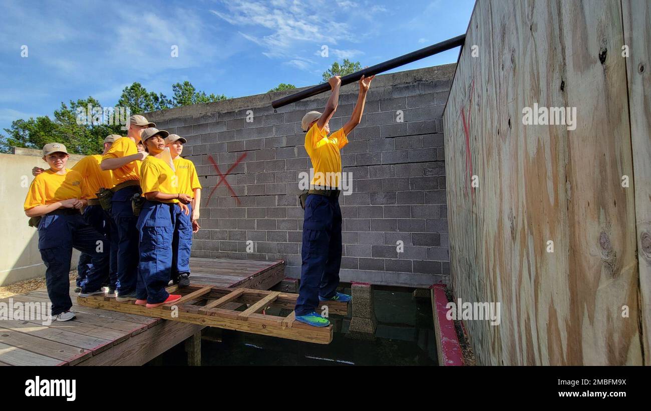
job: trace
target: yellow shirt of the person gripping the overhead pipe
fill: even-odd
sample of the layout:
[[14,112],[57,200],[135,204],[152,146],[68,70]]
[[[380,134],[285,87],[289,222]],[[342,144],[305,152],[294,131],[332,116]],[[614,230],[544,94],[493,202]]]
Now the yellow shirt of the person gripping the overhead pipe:
[[319,129],[314,123],[305,135],[305,151],[310,156],[314,178],[311,185],[319,187],[339,187],[341,178],[341,155],[339,150],[348,144],[344,129],[332,133]]

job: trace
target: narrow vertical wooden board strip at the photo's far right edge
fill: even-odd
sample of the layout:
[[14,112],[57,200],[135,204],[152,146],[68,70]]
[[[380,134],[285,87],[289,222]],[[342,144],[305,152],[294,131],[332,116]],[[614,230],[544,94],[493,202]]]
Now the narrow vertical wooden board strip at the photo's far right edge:
[[[644,364],[651,365],[651,3],[622,0]],[[630,177],[630,174],[628,174]],[[628,189],[630,190],[630,188]]]

